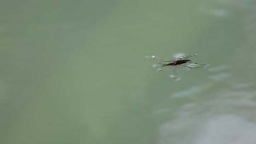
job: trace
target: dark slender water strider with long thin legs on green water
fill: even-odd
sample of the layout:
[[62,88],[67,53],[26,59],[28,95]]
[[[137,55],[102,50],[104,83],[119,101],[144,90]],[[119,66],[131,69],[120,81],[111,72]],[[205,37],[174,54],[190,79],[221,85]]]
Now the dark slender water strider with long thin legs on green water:
[[[194,63],[194,62],[191,62],[191,60],[189,60],[188,58],[189,57],[193,57],[193,56],[196,56],[196,55],[188,55],[188,56],[184,56],[184,57],[181,57],[181,58],[178,58],[174,61],[166,61],[164,59],[160,59],[158,57],[155,57],[155,56],[152,56],[152,58],[158,58],[161,60],[161,62],[159,62],[160,65],[156,65],[155,68],[159,68],[159,70],[162,70],[163,67],[167,67],[167,66],[171,66],[171,65],[174,65],[174,66],[177,66],[177,65],[181,65],[183,67],[187,67],[187,68],[199,68],[199,67],[203,67],[203,66],[208,66],[208,64],[200,64],[200,63]],[[196,64],[198,66],[196,67],[190,67],[189,65],[182,65],[184,63],[193,63],[193,64]],[[174,68],[174,73],[175,73],[175,69],[176,67]]]

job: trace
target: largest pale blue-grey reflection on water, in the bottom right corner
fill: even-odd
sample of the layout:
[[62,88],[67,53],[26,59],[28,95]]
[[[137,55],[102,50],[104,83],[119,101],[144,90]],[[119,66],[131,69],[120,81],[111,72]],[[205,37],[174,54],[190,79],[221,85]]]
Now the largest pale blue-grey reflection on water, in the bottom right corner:
[[256,125],[236,115],[220,115],[202,123],[197,144],[255,143]]

